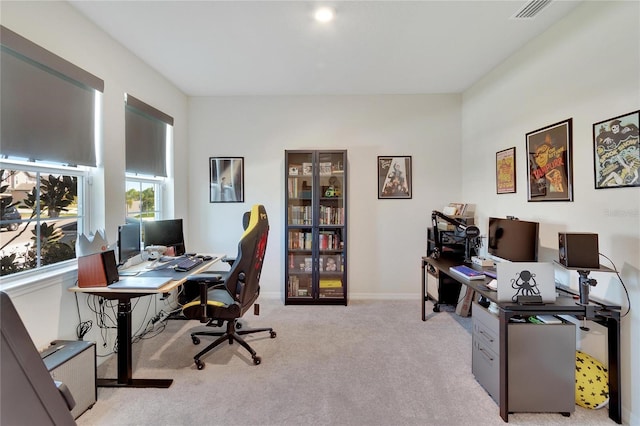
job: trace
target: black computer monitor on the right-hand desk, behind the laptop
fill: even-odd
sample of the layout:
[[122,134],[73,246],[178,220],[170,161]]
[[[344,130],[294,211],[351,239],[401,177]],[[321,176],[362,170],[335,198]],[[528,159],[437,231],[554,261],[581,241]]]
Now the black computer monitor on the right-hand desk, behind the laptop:
[[487,251],[498,261],[537,262],[538,228],[537,222],[490,217]]

